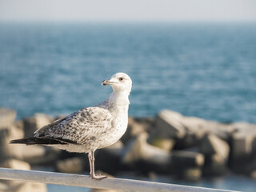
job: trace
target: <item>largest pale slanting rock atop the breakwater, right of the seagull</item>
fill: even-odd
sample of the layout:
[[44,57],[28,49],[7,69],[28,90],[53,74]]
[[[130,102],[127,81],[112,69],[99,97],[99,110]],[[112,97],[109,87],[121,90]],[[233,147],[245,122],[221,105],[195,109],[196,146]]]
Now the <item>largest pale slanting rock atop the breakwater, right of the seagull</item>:
[[171,110],[162,110],[156,120],[158,132],[162,137],[178,138],[175,149],[195,146],[205,134],[216,134],[225,141],[234,132],[233,124],[206,121],[202,118],[185,117]]

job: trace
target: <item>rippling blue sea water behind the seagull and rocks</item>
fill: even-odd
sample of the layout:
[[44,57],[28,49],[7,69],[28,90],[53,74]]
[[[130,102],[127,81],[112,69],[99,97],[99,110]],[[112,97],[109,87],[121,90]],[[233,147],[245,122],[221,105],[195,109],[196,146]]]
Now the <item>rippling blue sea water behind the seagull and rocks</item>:
[[[111,92],[102,80],[119,71],[133,79],[131,116],[170,109],[256,123],[256,23],[0,23],[0,106],[18,118],[102,102]],[[228,177],[194,185],[254,184]]]

